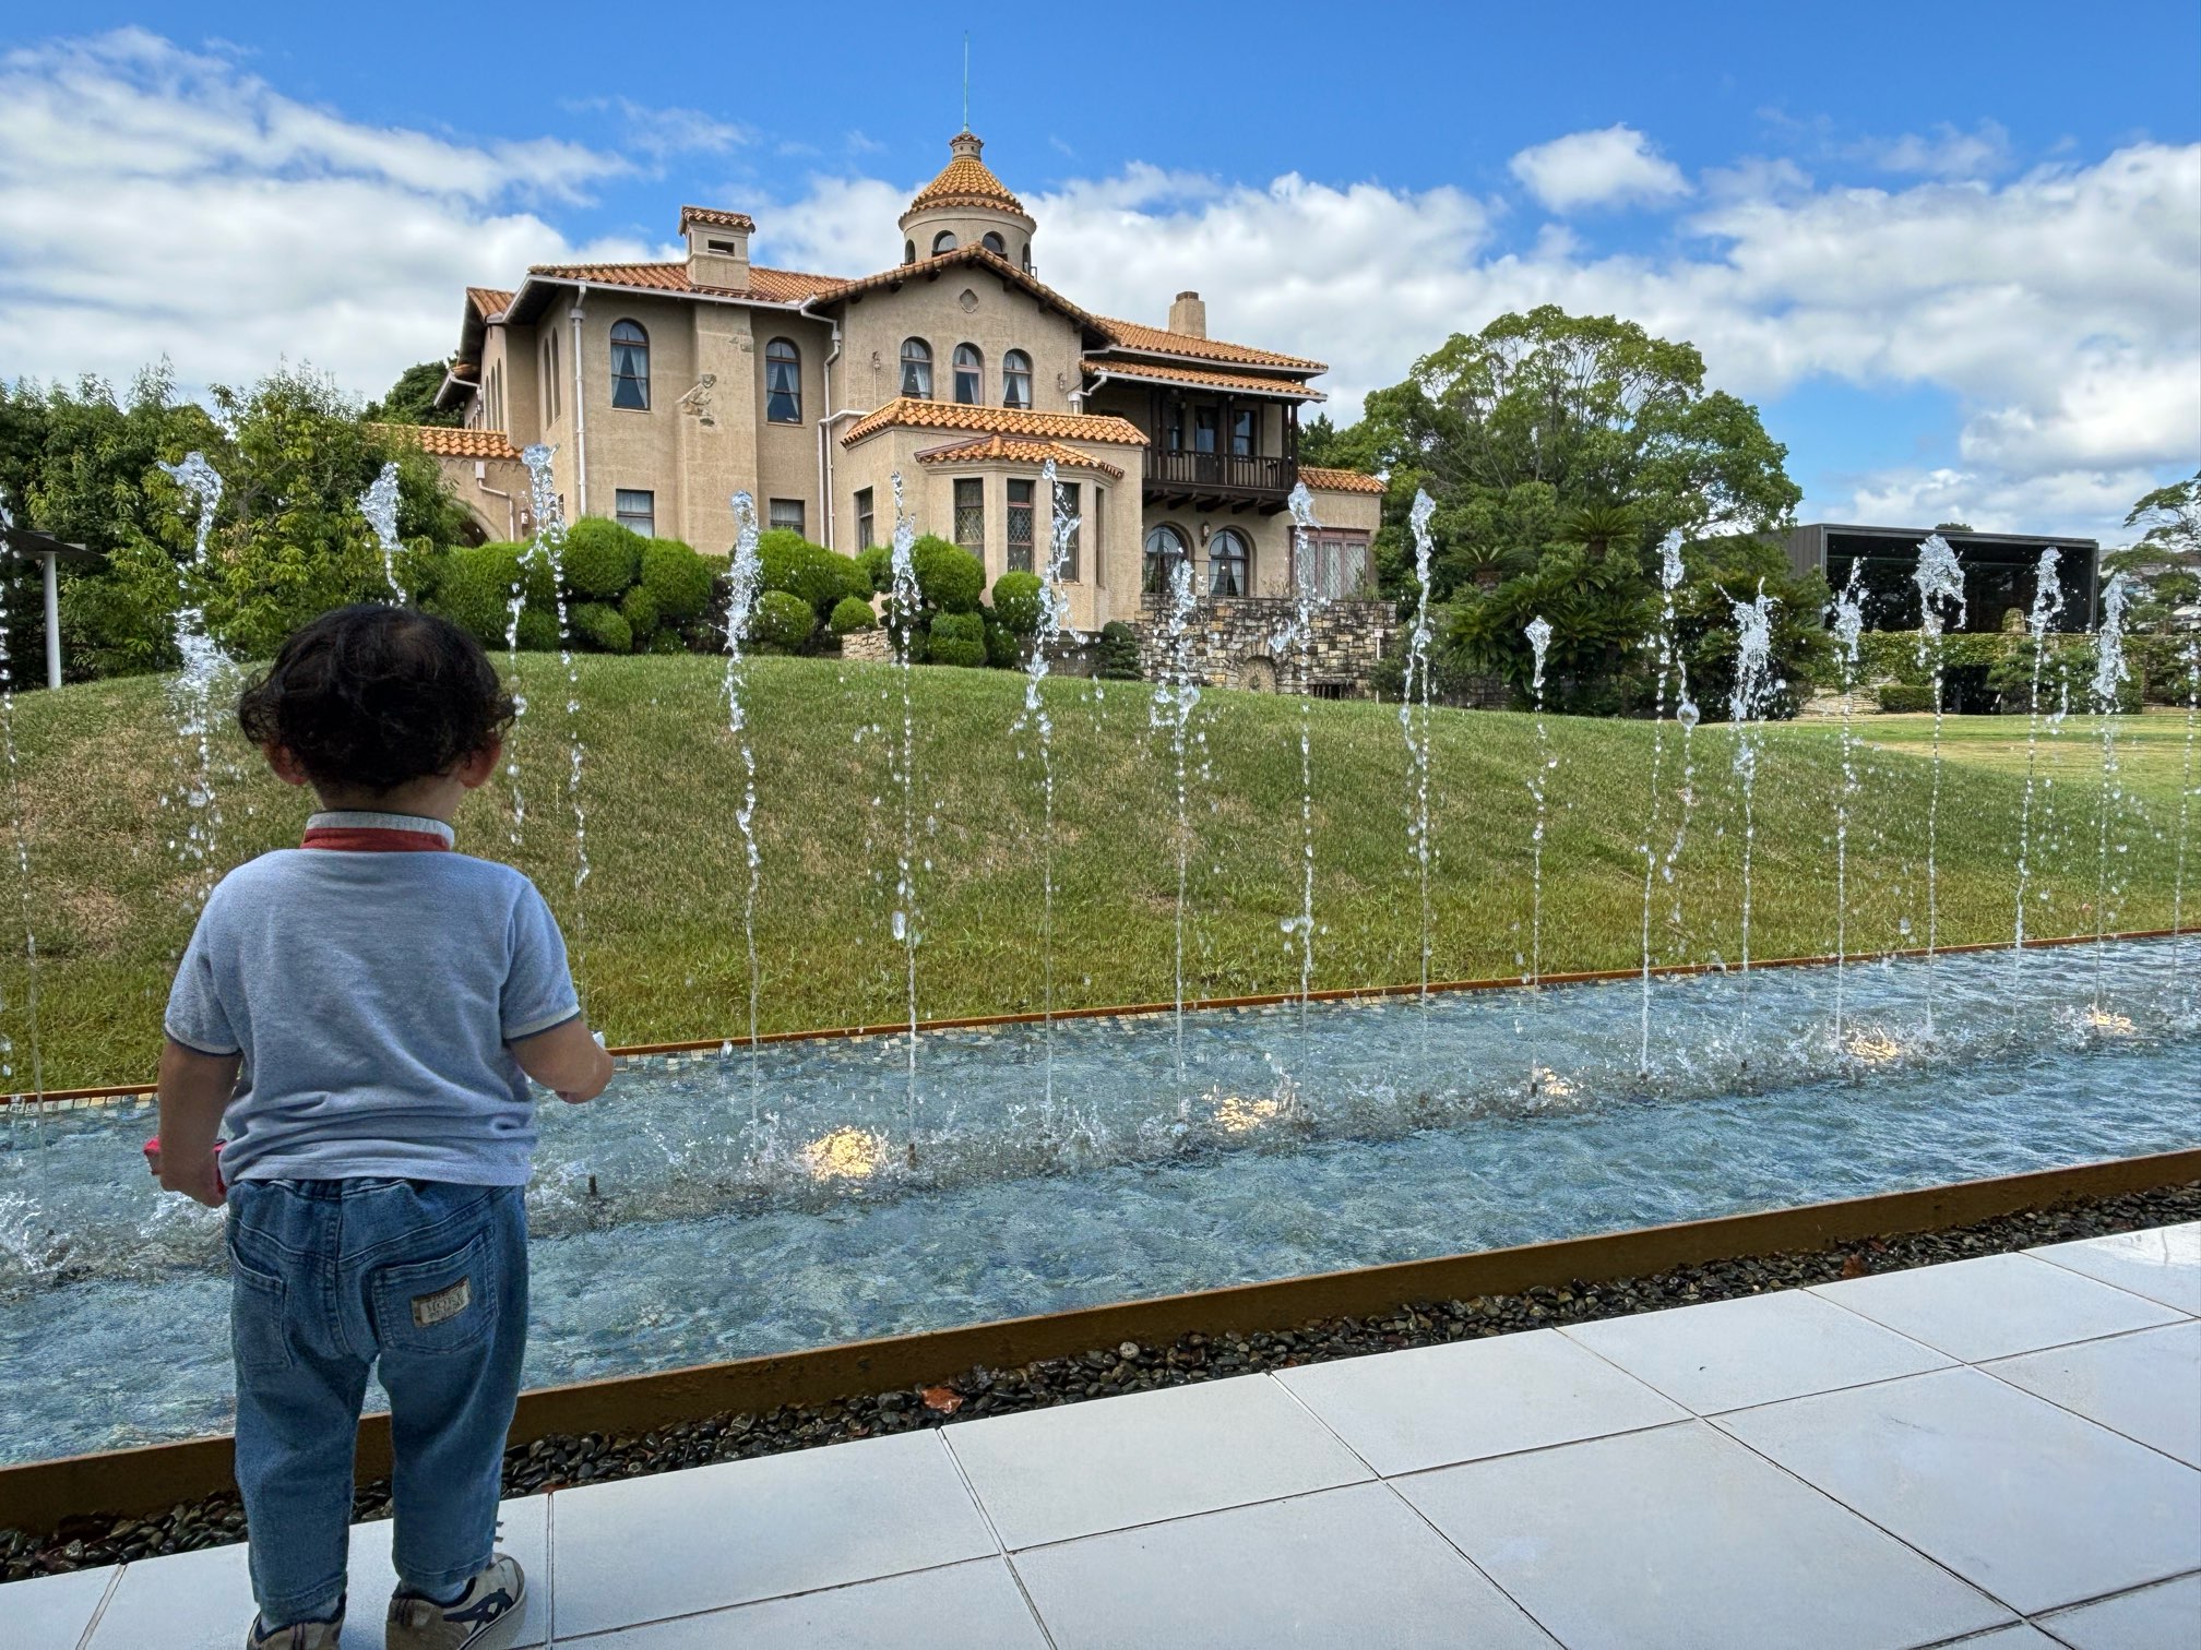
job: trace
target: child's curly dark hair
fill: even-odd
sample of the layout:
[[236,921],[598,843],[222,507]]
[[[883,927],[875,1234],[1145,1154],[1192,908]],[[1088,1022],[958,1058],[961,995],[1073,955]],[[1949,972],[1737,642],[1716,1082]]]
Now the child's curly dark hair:
[[418,607],[339,607],[299,625],[238,700],[255,746],[319,785],[396,790],[447,774],[513,719],[482,645]]

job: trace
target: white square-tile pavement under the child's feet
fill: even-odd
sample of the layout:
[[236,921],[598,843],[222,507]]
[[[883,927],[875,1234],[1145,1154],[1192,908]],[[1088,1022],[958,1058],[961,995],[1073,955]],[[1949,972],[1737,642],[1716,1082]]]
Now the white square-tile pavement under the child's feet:
[[[2201,1650],[2186,1234],[533,1496],[522,1643]],[[7,1650],[249,1617],[238,1547],[0,1586]]]

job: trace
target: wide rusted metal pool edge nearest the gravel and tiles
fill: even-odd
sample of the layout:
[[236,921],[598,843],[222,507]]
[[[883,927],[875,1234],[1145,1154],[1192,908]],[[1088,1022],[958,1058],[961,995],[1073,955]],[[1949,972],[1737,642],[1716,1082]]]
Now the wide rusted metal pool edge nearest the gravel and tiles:
[[[1004,1318],[920,1335],[693,1364],[656,1375],[546,1386],[519,1395],[511,1443],[572,1432],[634,1434],[726,1410],[755,1412],[781,1404],[817,1404],[854,1393],[922,1386],[977,1364],[1017,1368],[1125,1340],[1164,1344],[1191,1331],[1290,1329],[1314,1318],[1369,1318],[1413,1300],[1521,1294],[1536,1285],[1602,1283],[1677,1265],[1825,1250],[1869,1236],[1937,1232],[2076,1199],[2146,1192],[2197,1179],[2201,1179],[2201,1146],[1512,1250],[1123,1300],[1037,1318]],[[357,1472],[361,1481],[387,1476],[387,1417],[361,1421]],[[143,1516],[233,1485],[229,1437],[31,1461],[0,1467],[0,1529],[44,1536],[70,1516]]]

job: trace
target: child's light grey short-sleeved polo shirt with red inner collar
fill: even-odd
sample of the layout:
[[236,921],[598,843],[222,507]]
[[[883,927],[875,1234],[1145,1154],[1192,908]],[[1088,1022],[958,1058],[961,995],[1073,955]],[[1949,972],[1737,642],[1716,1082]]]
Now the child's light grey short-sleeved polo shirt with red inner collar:
[[581,1012],[566,942],[519,871],[449,851],[451,827],[315,814],[308,843],[207,898],[167,1034],[242,1054],[222,1177],[524,1186],[535,1100],[511,1043]]

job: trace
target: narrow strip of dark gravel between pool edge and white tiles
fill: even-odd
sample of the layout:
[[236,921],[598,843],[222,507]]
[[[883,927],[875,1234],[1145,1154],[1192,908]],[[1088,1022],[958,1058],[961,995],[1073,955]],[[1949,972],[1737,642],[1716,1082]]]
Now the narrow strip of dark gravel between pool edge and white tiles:
[[[2040,1243],[2177,1225],[2201,1219],[2201,1181],[2126,1197],[2065,1203],[2054,1210],[2005,1214],[1946,1232],[1866,1239],[1831,1250],[1761,1254],[1741,1261],[1673,1267],[1642,1278],[1572,1283],[1516,1296],[1426,1300],[1387,1318],[1318,1318],[1296,1329],[1224,1335],[1184,1335],[1171,1346],[1123,1342],[1081,1357],[1050,1357],[1023,1368],[973,1368],[942,1386],[863,1393],[825,1404],[784,1406],[766,1415],[711,1415],[702,1421],[640,1437],[548,1437],[508,1450],[504,1494],[533,1496],[607,1478],[638,1478],[711,1461],[742,1461],[781,1450],[808,1450],[885,1432],[913,1432],[982,1415],[1010,1415],[1089,1397],[1145,1393],[1156,1386],[1250,1375],[1332,1357],[1431,1346],[1448,1340],[1508,1335],[1596,1318],[1624,1318],[1699,1300],[1730,1300],[1767,1289],[1798,1289],[1869,1272],[1965,1261],[1976,1254],[2029,1250]],[[354,1518],[390,1516],[390,1483],[361,1487]],[[53,1538],[0,1531],[0,1582],[114,1564],[119,1560],[189,1553],[244,1540],[244,1509],[233,1492],[183,1503],[150,1518],[73,1518]]]

